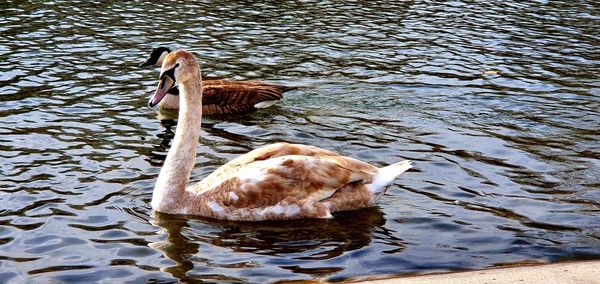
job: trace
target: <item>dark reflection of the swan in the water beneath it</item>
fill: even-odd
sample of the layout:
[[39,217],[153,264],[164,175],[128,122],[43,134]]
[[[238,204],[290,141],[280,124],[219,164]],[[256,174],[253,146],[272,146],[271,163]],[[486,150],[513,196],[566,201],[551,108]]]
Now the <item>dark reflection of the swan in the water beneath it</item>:
[[[193,269],[203,270],[199,267],[245,269],[257,265],[250,262],[236,264],[236,267],[216,264],[210,255],[203,255],[201,247],[205,245],[211,246],[213,253],[216,250],[214,247],[219,247],[219,251],[281,257],[286,259],[286,265],[280,266],[282,269],[311,276],[324,276],[344,270],[344,267],[329,265],[314,268],[319,265],[319,261],[367,246],[371,242],[373,232],[378,228],[387,231],[383,228],[384,215],[377,208],[336,213],[332,219],[285,222],[219,221],[153,212],[151,223],[163,229],[167,237],[164,241],[150,243],[149,246],[161,251],[165,257],[176,263],[161,270],[180,281],[194,278],[243,281],[231,276],[215,275],[210,273],[210,270],[205,275],[195,276],[188,272]],[[312,261],[312,268],[302,268]]]

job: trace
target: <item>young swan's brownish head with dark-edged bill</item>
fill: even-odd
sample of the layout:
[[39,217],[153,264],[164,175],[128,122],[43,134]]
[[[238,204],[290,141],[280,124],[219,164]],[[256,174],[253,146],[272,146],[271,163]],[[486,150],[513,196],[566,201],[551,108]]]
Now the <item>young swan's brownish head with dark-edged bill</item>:
[[153,107],[160,103],[165,95],[171,91],[175,84],[186,83],[189,80],[199,79],[200,77],[200,66],[196,62],[196,57],[188,51],[176,50],[169,53],[163,61],[158,86],[156,92],[150,101],[148,106]]

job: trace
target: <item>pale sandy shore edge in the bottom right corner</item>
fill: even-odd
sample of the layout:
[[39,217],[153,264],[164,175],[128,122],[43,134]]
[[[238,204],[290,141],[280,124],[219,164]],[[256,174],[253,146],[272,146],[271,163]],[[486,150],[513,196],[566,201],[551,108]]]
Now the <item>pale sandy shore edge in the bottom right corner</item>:
[[413,283],[600,283],[600,261],[562,262],[536,266],[486,269],[469,272],[442,273],[378,280],[363,280],[351,283],[365,284],[413,284]]

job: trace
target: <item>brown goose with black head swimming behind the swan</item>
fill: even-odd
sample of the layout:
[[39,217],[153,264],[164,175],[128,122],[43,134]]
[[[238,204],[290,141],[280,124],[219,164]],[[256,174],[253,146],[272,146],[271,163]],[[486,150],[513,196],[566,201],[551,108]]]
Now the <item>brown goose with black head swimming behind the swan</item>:
[[[157,47],[140,67],[161,66],[170,52],[167,47]],[[204,114],[231,114],[270,107],[283,98],[283,93],[297,88],[261,81],[204,80],[202,89]],[[179,109],[178,95],[179,90],[174,86],[160,102],[160,107]]]

